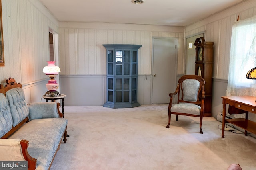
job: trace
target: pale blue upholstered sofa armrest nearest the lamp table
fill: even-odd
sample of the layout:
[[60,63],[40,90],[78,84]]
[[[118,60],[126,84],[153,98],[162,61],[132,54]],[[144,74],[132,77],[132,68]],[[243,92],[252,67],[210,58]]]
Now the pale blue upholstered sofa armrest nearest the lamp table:
[[29,120],[59,117],[55,102],[34,102],[28,105]]

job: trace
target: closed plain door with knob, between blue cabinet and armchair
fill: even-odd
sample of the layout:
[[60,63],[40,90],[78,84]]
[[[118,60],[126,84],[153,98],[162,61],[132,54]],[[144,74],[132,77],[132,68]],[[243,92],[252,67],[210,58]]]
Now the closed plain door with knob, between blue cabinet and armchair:
[[152,104],[169,103],[176,88],[178,39],[153,37],[152,43]]

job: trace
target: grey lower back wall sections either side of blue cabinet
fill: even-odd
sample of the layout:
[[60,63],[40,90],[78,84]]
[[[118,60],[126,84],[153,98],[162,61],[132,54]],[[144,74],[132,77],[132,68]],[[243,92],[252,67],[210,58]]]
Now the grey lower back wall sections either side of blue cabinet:
[[[151,103],[152,76],[138,76],[138,102]],[[106,75],[60,76],[66,106],[102,106],[106,102]]]

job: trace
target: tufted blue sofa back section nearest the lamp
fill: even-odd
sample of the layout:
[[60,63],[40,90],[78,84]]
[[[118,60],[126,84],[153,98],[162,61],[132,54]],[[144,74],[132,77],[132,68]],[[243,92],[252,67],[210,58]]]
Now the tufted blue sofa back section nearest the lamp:
[[28,105],[22,88],[12,88],[6,92],[6,98],[12,113],[13,127],[28,117]]

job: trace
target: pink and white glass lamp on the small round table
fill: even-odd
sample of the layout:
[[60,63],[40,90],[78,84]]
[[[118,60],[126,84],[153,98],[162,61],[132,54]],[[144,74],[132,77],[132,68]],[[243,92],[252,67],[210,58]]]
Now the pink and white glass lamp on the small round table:
[[55,61],[47,61],[47,63],[48,66],[44,67],[43,73],[48,75],[50,80],[46,84],[48,91],[44,94],[44,96],[48,94],[54,97],[55,95],[60,95],[60,93],[57,91],[59,84],[55,80],[56,75],[60,72],[60,68],[54,64]]

